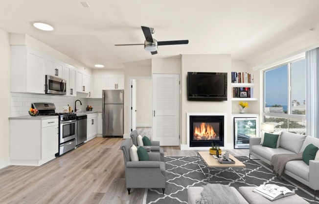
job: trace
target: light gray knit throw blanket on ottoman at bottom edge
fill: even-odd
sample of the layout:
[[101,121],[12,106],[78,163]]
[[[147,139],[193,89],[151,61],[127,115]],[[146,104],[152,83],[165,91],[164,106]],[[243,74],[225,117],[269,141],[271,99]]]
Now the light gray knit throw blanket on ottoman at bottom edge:
[[196,204],[239,204],[238,198],[228,185],[207,184]]

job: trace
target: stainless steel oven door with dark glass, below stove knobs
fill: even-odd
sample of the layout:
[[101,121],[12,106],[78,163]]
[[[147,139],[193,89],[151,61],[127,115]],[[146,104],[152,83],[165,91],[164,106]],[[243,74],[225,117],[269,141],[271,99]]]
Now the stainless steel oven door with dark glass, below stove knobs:
[[60,122],[60,144],[76,138],[76,120]]

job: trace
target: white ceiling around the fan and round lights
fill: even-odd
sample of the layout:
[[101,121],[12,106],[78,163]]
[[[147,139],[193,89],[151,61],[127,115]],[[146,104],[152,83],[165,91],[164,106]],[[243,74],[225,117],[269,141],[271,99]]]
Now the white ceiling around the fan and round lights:
[[[90,8],[82,6],[87,1]],[[179,54],[231,54],[249,60],[277,39],[319,29],[319,0],[1,0],[0,28],[26,33],[94,68]],[[54,26],[41,31],[33,22]],[[188,45],[159,46],[151,55],[140,26],[156,29],[158,41],[188,39]],[[273,45],[272,45],[273,43]]]

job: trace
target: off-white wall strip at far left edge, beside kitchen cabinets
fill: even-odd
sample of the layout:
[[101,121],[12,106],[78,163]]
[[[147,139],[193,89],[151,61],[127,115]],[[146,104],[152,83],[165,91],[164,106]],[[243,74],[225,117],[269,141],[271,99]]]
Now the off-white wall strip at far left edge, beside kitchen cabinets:
[[9,165],[9,114],[10,114],[10,39],[0,29],[0,169]]

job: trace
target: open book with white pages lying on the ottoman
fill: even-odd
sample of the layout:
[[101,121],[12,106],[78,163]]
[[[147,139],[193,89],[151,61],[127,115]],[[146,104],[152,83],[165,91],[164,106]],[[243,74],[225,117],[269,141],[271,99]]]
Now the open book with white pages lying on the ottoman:
[[295,194],[295,192],[289,190],[288,188],[275,184],[260,185],[252,191],[271,201]]

